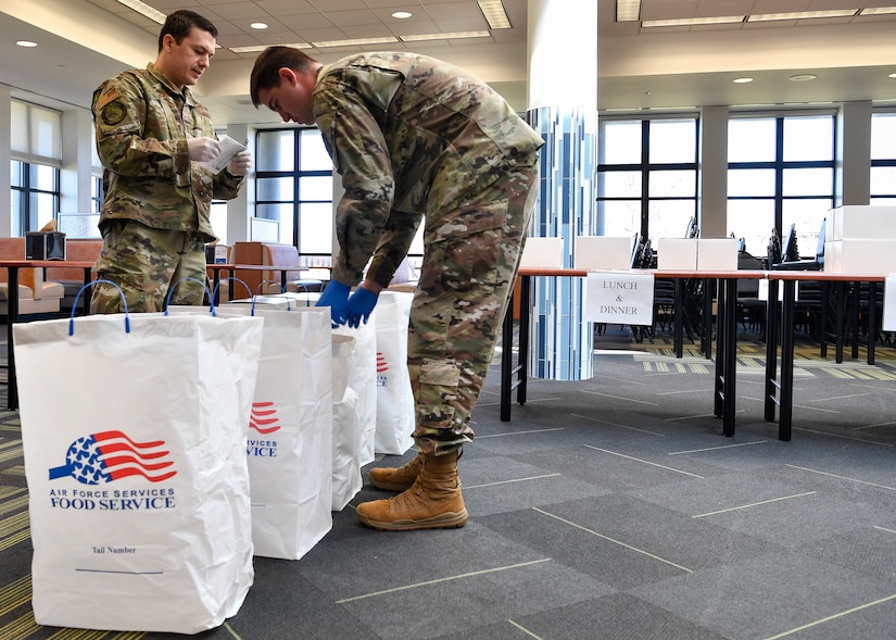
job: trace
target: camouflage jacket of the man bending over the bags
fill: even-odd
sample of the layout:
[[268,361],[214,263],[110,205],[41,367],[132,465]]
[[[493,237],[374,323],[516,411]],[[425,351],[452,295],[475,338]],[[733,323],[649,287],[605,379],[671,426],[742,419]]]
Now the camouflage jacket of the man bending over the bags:
[[320,70],[315,121],[342,176],[332,277],[382,286],[424,241],[496,228],[503,210],[462,204],[507,170],[531,166],[542,139],[478,78],[413,53],[365,53]]

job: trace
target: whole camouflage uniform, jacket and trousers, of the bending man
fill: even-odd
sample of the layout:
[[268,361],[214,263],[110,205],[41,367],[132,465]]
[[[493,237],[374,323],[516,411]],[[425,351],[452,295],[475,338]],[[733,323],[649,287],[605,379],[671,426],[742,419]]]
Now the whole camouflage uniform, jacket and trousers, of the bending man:
[[542,139],[481,80],[424,55],[371,53],[320,70],[315,121],[342,175],[332,277],[389,285],[425,221],[408,367],[417,446],[471,441],[469,415],[519,262]]

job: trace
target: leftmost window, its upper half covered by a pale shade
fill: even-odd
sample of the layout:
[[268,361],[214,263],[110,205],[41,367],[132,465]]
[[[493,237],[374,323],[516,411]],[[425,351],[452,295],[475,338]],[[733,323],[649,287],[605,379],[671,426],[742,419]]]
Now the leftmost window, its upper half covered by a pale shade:
[[59,214],[62,114],[18,100],[10,110],[12,234],[22,236]]

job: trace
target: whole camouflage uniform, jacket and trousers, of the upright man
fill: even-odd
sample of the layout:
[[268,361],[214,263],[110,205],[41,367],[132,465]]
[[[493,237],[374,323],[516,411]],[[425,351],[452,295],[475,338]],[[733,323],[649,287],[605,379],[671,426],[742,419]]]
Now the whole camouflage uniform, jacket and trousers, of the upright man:
[[[215,238],[212,199],[235,198],[243,178],[190,161],[188,138],[215,137],[211,116],[188,87],[177,89],[152,63],[100,85],[93,120],[105,193],[103,250],[93,273],[122,287],[128,311],[161,311],[178,279],[205,281],[204,243]],[[172,300],[199,304],[202,293],[185,281]],[[118,291],[94,286],[91,308],[119,311]]]

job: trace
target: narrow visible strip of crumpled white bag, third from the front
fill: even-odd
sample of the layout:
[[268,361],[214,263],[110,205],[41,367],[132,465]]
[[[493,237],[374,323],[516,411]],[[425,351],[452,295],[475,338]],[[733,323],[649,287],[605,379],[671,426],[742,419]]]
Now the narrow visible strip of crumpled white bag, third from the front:
[[[327,311],[329,317],[329,310]],[[332,336],[332,511],[342,511],[354,498],[363,480],[358,449],[362,428],[357,414],[357,393],[349,386],[355,340],[351,336]]]

